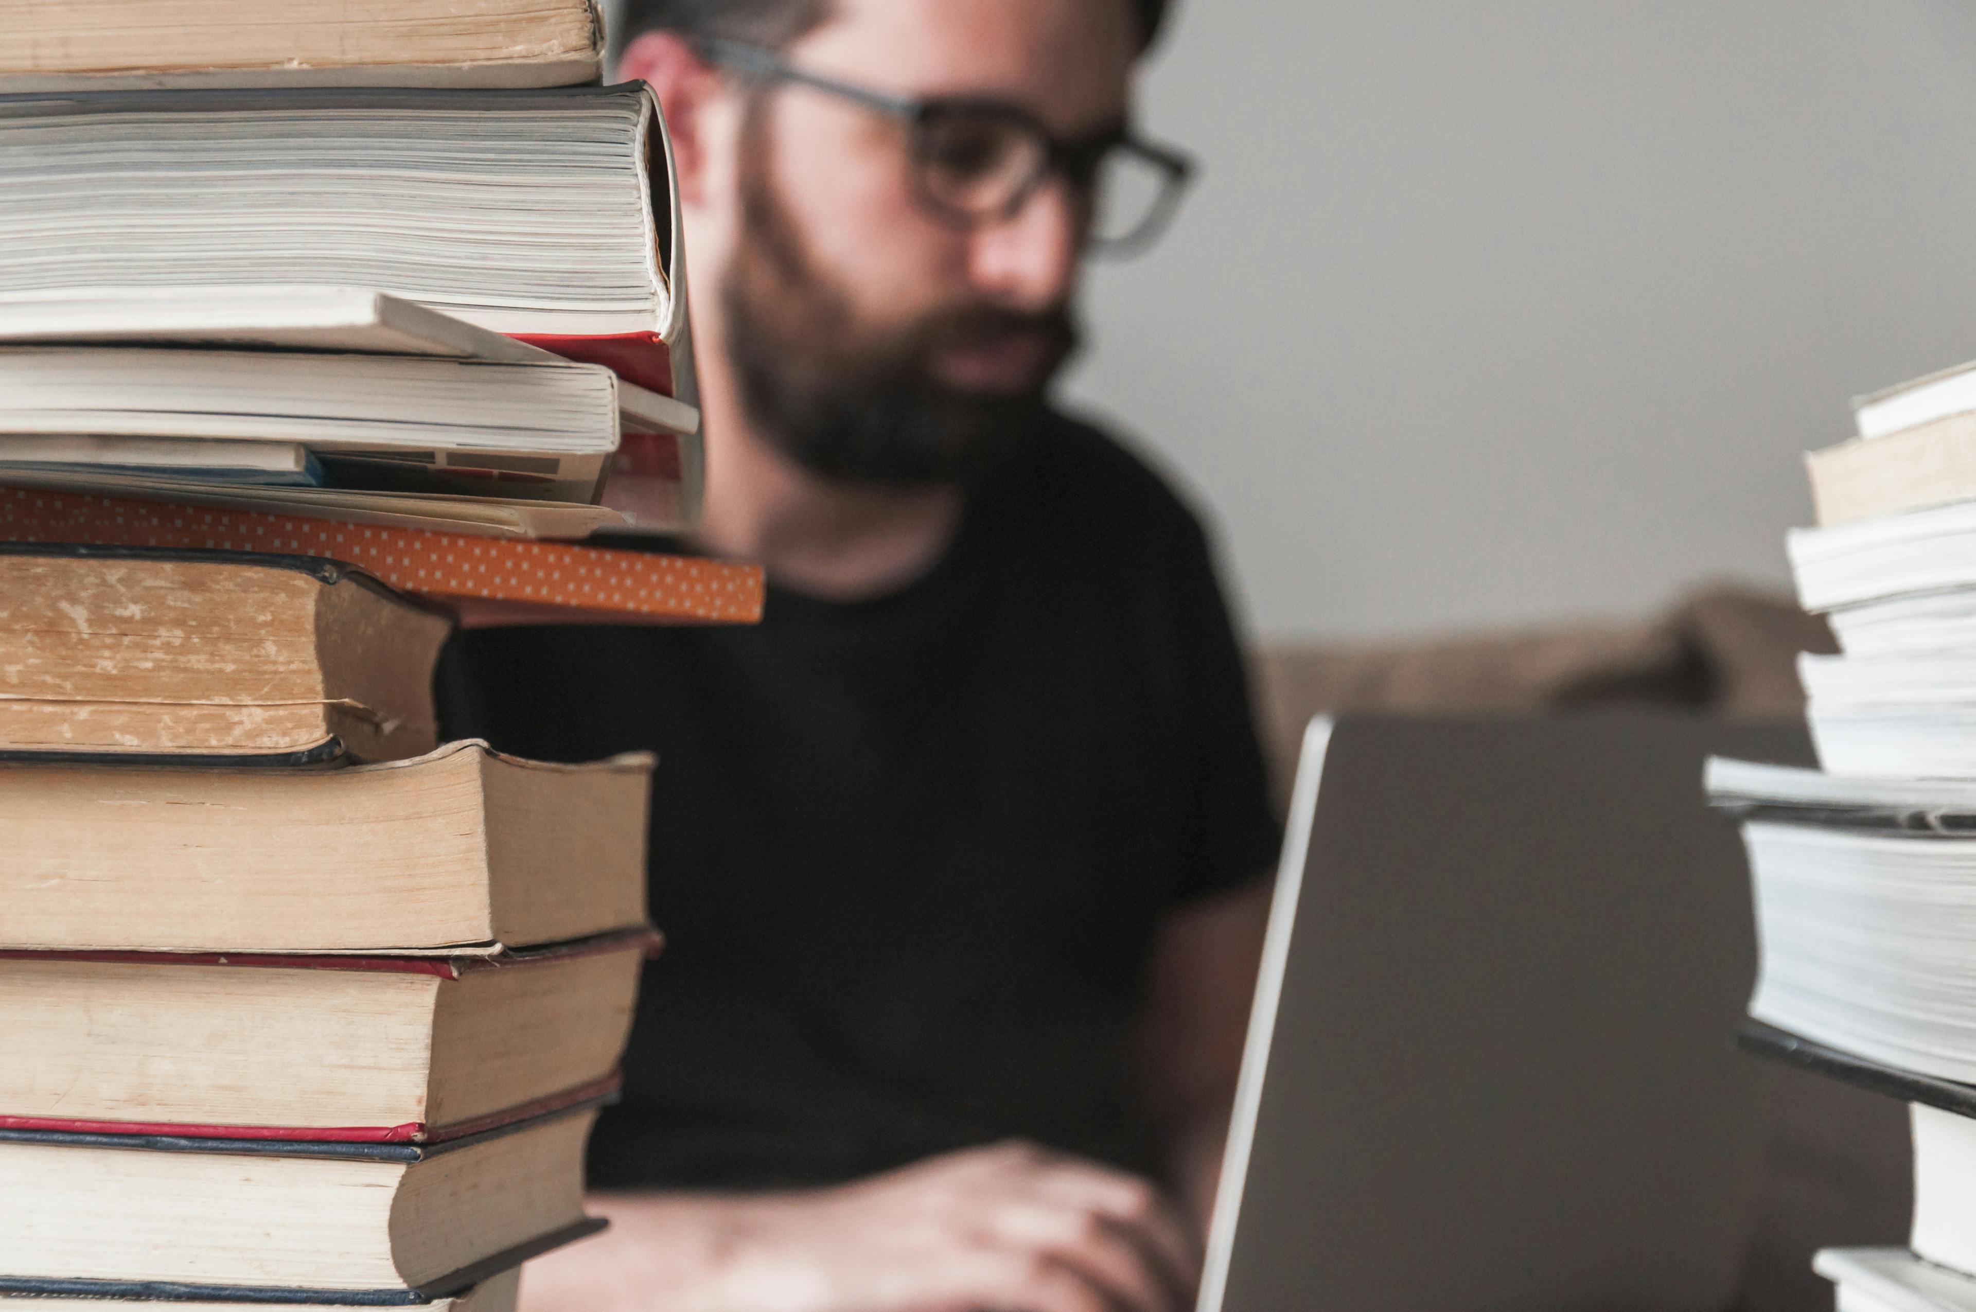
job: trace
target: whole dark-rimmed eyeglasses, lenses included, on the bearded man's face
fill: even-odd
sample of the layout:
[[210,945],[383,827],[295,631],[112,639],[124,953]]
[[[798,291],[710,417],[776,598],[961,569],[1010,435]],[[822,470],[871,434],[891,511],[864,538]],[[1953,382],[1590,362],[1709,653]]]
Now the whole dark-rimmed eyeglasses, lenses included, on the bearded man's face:
[[808,73],[775,51],[743,41],[701,38],[701,59],[749,77],[812,87],[907,124],[913,182],[921,200],[962,227],[1012,219],[1051,174],[1061,174],[1089,204],[1087,243],[1112,255],[1152,245],[1180,205],[1194,160],[1116,126],[1065,140],[1022,109],[994,97],[889,95]]

